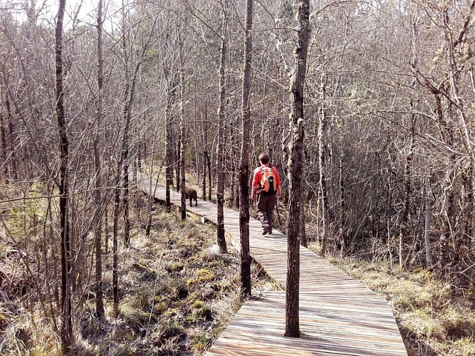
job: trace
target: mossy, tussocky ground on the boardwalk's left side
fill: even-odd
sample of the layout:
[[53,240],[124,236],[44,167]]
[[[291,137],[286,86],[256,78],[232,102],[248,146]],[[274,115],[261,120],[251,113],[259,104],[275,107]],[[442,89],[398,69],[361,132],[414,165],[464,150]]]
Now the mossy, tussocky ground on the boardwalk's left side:
[[[75,355],[202,355],[241,306],[240,258],[219,253],[216,229],[159,208],[150,237],[135,224],[120,251],[120,315],[112,310],[112,256],[103,263],[105,320],[93,293],[75,305]],[[252,266],[253,293],[276,286]],[[39,310],[0,300],[0,355],[61,355]]]

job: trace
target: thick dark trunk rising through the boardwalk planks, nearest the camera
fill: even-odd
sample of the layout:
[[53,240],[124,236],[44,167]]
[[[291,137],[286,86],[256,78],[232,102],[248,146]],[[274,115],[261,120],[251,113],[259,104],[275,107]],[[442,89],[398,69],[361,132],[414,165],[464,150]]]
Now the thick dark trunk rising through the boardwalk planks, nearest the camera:
[[292,83],[293,112],[291,115],[291,152],[289,170],[290,201],[287,218],[288,269],[286,286],[285,336],[299,337],[298,295],[300,281],[300,236],[302,212],[303,159],[303,89],[307,69],[310,0],[298,3],[298,46],[296,48],[295,77]]

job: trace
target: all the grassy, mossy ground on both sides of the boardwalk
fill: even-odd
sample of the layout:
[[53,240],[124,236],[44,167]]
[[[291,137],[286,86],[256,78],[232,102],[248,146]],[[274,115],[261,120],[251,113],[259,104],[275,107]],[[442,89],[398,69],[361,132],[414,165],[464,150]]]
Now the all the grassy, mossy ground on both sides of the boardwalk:
[[[239,256],[231,246],[228,254],[219,253],[214,226],[178,221],[159,207],[146,237],[143,219],[134,218],[130,248],[121,249],[119,257],[120,315],[113,316],[112,256],[105,254],[106,318],[95,318],[92,293],[76,301],[75,354],[203,355],[241,306]],[[318,252],[316,245],[310,249]],[[3,252],[1,271],[21,276],[21,261]],[[355,258],[328,260],[389,301],[409,356],[475,355],[474,295],[454,297],[447,283],[425,270],[402,271]],[[254,264],[252,278],[254,295],[277,289]],[[51,315],[33,298],[9,299],[14,291],[5,286],[0,288],[0,355],[61,355]]]

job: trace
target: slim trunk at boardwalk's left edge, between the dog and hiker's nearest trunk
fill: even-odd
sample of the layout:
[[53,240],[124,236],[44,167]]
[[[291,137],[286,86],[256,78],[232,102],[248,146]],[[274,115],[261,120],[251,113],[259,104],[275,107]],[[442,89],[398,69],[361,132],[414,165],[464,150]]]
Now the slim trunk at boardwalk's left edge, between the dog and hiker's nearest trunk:
[[219,54],[219,109],[218,109],[218,152],[217,152],[217,189],[216,189],[216,219],[217,240],[221,253],[227,253],[226,239],[224,237],[224,120],[226,113],[226,51],[227,51],[227,0],[221,0],[223,11],[223,28],[221,33],[221,51]]

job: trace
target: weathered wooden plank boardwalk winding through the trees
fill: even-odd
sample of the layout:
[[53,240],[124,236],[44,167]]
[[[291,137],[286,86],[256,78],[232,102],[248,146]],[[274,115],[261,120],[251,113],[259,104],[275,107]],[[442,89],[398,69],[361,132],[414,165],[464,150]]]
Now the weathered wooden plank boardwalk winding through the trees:
[[[142,189],[150,192],[144,184]],[[172,204],[180,194],[170,192]],[[158,187],[157,199],[165,199]],[[216,205],[198,200],[192,216],[216,224]],[[224,209],[226,239],[239,249],[239,212]],[[274,229],[261,235],[261,223],[249,221],[250,251],[268,275],[286,288],[287,239]],[[284,337],[285,292],[264,293],[246,300],[206,355],[407,355],[394,315],[386,300],[362,283],[301,246],[301,337]]]

